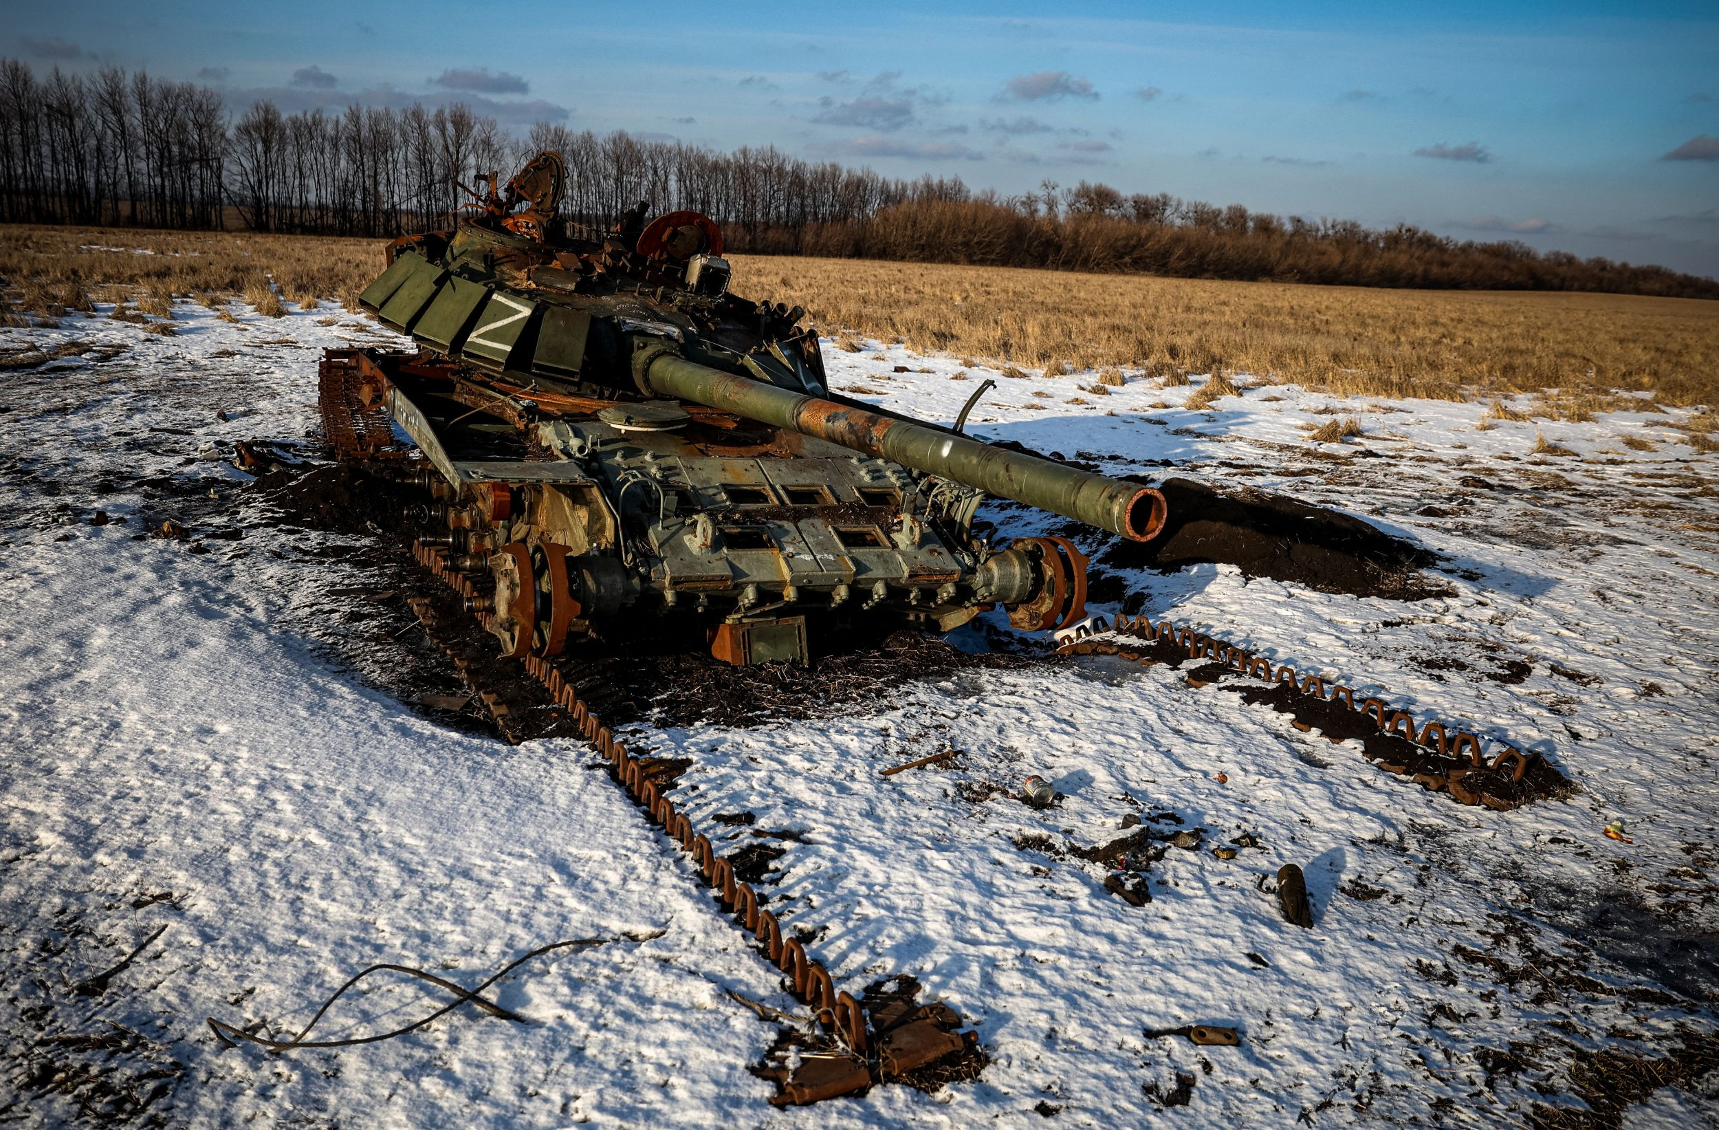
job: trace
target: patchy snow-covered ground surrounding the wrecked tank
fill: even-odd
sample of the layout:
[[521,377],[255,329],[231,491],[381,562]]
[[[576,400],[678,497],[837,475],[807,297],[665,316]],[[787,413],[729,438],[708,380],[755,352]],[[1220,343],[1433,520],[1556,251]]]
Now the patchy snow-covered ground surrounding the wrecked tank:
[[[193,504],[227,507],[194,533],[242,530],[230,444],[308,456],[318,351],[392,341],[330,308],[232,313],[180,303],[172,337],[105,316],[0,330],[0,353],[88,346],[0,375],[0,1120],[108,1101],[198,1127],[1525,1125],[1535,1102],[1580,1106],[1571,1072],[1592,1077],[1595,1051],[1679,1054],[1719,1030],[1719,456],[1681,442],[1678,413],[1478,430],[1483,404],[1281,385],[1198,413],[1179,408],[1198,378],[1098,396],[1092,373],[954,380],[952,358],[827,344],[853,396],[952,420],[994,377],[980,435],[1281,490],[1442,554],[1449,595],[1415,604],[1224,566],[1126,581],[1155,614],[1508,734],[1580,791],[1463,808],[1222,686],[1102,657],[908,683],[817,721],[638,728],[634,746],[693,758],[677,798],[694,819],[755,814],[739,843],[792,832],[767,841],[786,851],[768,889],[786,925],[818,930],[837,987],[913,973],[992,1058],[935,1094],[784,1111],[746,1072],[775,1029],[731,992],[794,1001],[595,758],[437,726],[325,647],[359,631],[385,655],[411,631],[385,597],[342,619],[363,597],[330,593],[364,588],[361,547],[138,540]],[[1334,409],[1365,435],[1310,444],[1300,425]],[[1537,433],[1573,454],[1530,454]],[[89,525],[98,509],[124,521]],[[944,748],[961,755],[877,776]],[[1012,800],[1031,772],[1057,807]],[[1143,908],[1071,853],[1124,817],[1205,829],[1153,865]],[[1612,820],[1633,843],[1602,836]],[[1212,855],[1243,832],[1263,846]],[[1260,887],[1286,862],[1312,930]],[[105,991],[77,991],[163,925]],[[528,1025],[462,1010],[287,1056],[203,1027],[284,1035],[373,961],[476,984],[566,937],[607,943],[497,989]],[[440,1001],[378,982],[320,1032]],[[1241,1046],[1147,1035],[1186,1023]],[[1712,1075],[1623,1113],[1702,1120],[1719,1120]]]

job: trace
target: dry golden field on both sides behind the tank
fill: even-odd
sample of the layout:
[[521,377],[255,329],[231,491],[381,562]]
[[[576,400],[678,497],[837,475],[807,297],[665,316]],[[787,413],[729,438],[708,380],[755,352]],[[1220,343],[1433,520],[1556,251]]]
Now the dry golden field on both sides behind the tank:
[[[363,239],[0,227],[0,277],[38,313],[81,296],[266,292],[351,301],[380,270]],[[1339,396],[1477,399],[1557,390],[1581,418],[1614,390],[1719,401],[1719,303],[1614,294],[1373,291],[872,260],[736,256],[736,291],[801,304],[827,332],[1016,372],[1229,370]]]

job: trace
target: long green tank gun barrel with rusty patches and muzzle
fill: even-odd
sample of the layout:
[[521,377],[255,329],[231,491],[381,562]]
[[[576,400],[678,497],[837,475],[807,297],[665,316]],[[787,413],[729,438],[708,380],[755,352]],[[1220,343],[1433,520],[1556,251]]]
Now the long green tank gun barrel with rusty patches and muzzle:
[[633,356],[641,389],[705,404],[760,423],[901,463],[1000,499],[1062,514],[1133,542],[1152,538],[1164,525],[1164,495],[1080,468],[994,447],[909,420],[779,389],[688,361],[665,346],[641,342]]

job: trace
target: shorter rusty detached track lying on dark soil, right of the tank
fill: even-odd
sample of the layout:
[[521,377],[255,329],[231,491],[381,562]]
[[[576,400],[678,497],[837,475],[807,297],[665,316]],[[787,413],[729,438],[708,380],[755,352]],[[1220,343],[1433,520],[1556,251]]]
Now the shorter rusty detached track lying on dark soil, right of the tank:
[[[1169,619],[1153,626],[1147,616],[1119,616],[1114,623],[1098,616],[1064,633],[1061,640],[1059,655],[1116,655],[1147,667],[1160,662],[1181,667],[1190,660],[1205,660],[1188,672],[1193,686],[1234,676],[1262,683],[1270,690],[1246,686],[1241,690],[1243,698],[1288,714],[1296,729],[1318,731],[1334,743],[1358,738],[1363,757],[1386,772],[1408,776],[1422,788],[1442,791],[1463,805],[1508,812],[1569,786],[1564,774],[1539,753],[1525,753],[1501,741],[1489,757],[1485,743],[1471,731],[1439,719],[1416,724],[1413,714],[1384,698],[1358,698],[1353,688],[1317,674],[1301,678],[1289,664],[1274,669],[1263,655]],[[1129,640],[1148,647],[1136,647]]]

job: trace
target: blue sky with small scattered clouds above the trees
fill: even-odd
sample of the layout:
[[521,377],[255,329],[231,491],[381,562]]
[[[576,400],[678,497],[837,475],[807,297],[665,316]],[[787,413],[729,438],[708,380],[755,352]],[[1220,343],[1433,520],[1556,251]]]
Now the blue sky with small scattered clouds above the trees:
[[1712,3],[86,2],[15,12],[0,52],[1719,275]]

